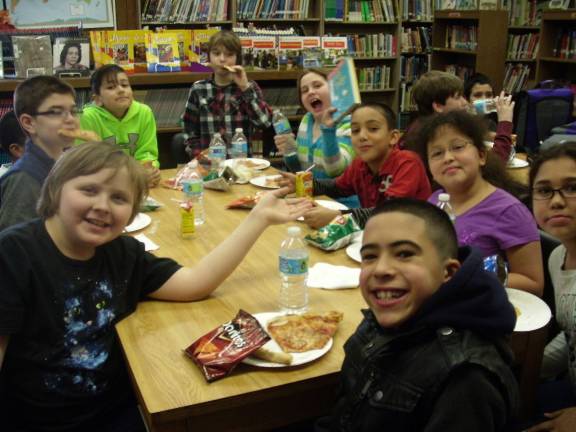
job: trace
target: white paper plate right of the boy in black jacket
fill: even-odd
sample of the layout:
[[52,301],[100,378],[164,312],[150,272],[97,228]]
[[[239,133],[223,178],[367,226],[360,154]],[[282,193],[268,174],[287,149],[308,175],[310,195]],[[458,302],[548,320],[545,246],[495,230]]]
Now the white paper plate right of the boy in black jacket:
[[516,309],[516,327],[514,331],[525,332],[544,327],[552,312],[548,305],[539,297],[526,291],[506,288],[508,300]]

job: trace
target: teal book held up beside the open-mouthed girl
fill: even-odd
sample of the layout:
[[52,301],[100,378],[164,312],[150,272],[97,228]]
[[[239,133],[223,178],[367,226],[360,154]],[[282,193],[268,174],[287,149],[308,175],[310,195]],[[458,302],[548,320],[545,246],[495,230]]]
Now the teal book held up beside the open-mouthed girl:
[[356,77],[354,60],[351,57],[340,59],[336,67],[328,74],[330,100],[336,108],[334,121],[340,122],[352,109],[362,102]]

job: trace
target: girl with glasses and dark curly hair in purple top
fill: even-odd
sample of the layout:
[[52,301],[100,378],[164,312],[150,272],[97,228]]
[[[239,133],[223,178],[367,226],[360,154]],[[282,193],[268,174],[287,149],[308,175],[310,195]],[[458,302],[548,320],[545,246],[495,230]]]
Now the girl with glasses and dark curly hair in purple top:
[[481,119],[462,111],[439,114],[423,125],[418,153],[441,189],[428,201],[450,194],[461,246],[508,263],[508,285],[542,295],[544,275],[540,236],[530,211],[505,189],[513,181],[503,162],[484,144]]

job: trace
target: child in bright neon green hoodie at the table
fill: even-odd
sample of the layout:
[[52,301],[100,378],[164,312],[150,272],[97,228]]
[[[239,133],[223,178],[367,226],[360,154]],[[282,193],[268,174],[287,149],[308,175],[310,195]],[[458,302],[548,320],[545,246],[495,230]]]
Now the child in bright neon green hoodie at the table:
[[144,165],[148,185],[158,185],[156,119],[148,105],[134,100],[124,69],[115,64],[102,66],[92,74],[90,87],[94,103],[82,111],[82,129],[93,131],[102,141],[121,147]]

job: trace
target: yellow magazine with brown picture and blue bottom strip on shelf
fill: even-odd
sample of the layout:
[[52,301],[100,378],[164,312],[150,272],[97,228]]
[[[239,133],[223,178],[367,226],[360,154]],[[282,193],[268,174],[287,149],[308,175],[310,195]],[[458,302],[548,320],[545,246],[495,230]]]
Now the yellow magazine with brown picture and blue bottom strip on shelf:
[[147,39],[148,72],[179,72],[178,34],[175,32],[151,32],[148,33]]

